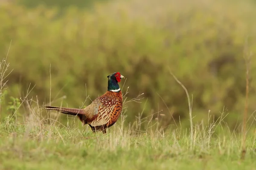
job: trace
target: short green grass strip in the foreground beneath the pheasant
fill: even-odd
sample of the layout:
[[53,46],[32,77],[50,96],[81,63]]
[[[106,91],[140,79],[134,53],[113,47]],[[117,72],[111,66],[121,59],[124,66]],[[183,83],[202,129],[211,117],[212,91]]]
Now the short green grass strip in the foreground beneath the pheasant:
[[241,161],[241,136],[217,133],[218,126],[196,126],[190,140],[186,130],[143,132],[114,125],[104,135],[74,124],[6,120],[0,125],[0,169],[256,169],[256,134],[248,134]]

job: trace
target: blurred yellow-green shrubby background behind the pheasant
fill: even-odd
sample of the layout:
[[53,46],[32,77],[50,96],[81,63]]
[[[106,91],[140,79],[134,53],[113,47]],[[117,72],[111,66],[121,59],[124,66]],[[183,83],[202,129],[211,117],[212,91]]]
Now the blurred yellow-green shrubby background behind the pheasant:
[[[105,93],[107,75],[119,71],[127,101],[144,93],[141,103],[125,104],[125,125],[141,116],[165,129],[175,122],[189,127],[186,93],[172,71],[193,95],[194,122],[224,113],[235,129],[244,112],[249,55],[248,114],[255,119],[255,9],[255,0],[0,0],[0,57],[10,47],[13,69],[1,119],[34,86],[31,105],[51,100],[79,108],[87,96]],[[26,104],[17,113],[29,114]]]

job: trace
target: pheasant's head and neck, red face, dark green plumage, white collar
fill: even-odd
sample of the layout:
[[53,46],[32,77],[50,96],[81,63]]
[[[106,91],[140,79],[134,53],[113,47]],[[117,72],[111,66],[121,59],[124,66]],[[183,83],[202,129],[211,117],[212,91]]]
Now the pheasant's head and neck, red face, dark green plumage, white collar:
[[110,74],[107,77],[108,77],[108,91],[119,92],[120,87],[118,85],[118,82],[120,82],[121,79],[125,77],[123,77],[119,72]]

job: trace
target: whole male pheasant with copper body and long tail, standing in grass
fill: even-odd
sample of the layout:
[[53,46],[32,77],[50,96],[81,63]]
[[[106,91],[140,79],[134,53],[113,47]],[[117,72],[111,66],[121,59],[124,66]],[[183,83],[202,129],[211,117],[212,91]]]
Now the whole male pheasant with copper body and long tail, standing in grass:
[[59,108],[44,106],[45,110],[55,110],[61,113],[78,116],[83,125],[88,124],[93,132],[102,131],[114,125],[122,111],[122,92],[118,85],[123,77],[119,72],[108,77],[108,91],[95,99],[84,109]]

